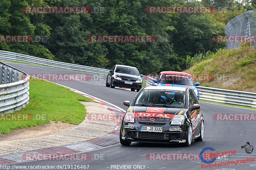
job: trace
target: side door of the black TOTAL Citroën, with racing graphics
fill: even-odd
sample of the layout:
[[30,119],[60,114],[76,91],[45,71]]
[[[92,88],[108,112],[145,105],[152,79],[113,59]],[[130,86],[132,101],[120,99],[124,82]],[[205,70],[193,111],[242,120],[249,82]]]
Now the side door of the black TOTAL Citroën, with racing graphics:
[[192,136],[195,136],[196,134],[199,133],[199,127],[200,127],[200,115],[199,113],[199,109],[196,110],[192,110],[192,106],[194,104],[197,104],[196,98],[195,98],[196,94],[193,90],[190,90],[189,92],[189,111],[190,111],[190,118],[192,121]]

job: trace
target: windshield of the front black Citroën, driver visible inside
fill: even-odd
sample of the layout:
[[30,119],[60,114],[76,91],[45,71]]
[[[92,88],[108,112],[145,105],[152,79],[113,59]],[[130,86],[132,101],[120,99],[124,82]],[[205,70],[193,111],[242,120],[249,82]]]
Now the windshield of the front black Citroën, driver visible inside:
[[135,105],[185,108],[184,91],[142,90]]

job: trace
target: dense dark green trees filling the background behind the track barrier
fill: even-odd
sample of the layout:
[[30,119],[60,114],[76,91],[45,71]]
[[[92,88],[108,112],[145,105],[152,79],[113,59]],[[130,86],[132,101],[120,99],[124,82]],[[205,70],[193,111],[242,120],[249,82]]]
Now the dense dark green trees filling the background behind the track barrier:
[[[148,6],[215,6],[214,14],[150,14]],[[104,7],[104,13],[24,14],[26,6]],[[217,7],[227,7],[219,11]],[[1,0],[0,35],[46,36],[46,42],[0,43],[0,50],[41,58],[112,68],[135,66],[140,73],[186,69],[187,56],[215,52],[226,44],[215,43],[214,35],[225,34],[225,24],[250,10],[232,0]],[[221,8],[220,8],[221,9]],[[171,36],[170,42],[91,43],[89,35]]]

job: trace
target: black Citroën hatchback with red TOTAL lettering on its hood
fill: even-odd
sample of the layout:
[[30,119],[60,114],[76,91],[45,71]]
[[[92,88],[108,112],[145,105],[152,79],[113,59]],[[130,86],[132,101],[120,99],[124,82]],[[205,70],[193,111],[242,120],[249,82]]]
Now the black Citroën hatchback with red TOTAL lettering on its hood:
[[120,128],[120,143],[182,143],[204,138],[204,118],[195,92],[190,88],[149,86],[124,101],[128,110]]

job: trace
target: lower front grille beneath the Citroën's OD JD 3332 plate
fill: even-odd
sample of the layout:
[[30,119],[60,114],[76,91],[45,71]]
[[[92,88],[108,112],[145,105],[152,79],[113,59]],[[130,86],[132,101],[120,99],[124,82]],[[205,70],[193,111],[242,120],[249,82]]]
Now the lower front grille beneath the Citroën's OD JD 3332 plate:
[[158,132],[135,132],[135,138],[142,138],[142,139],[168,139],[168,133],[158,133]]

